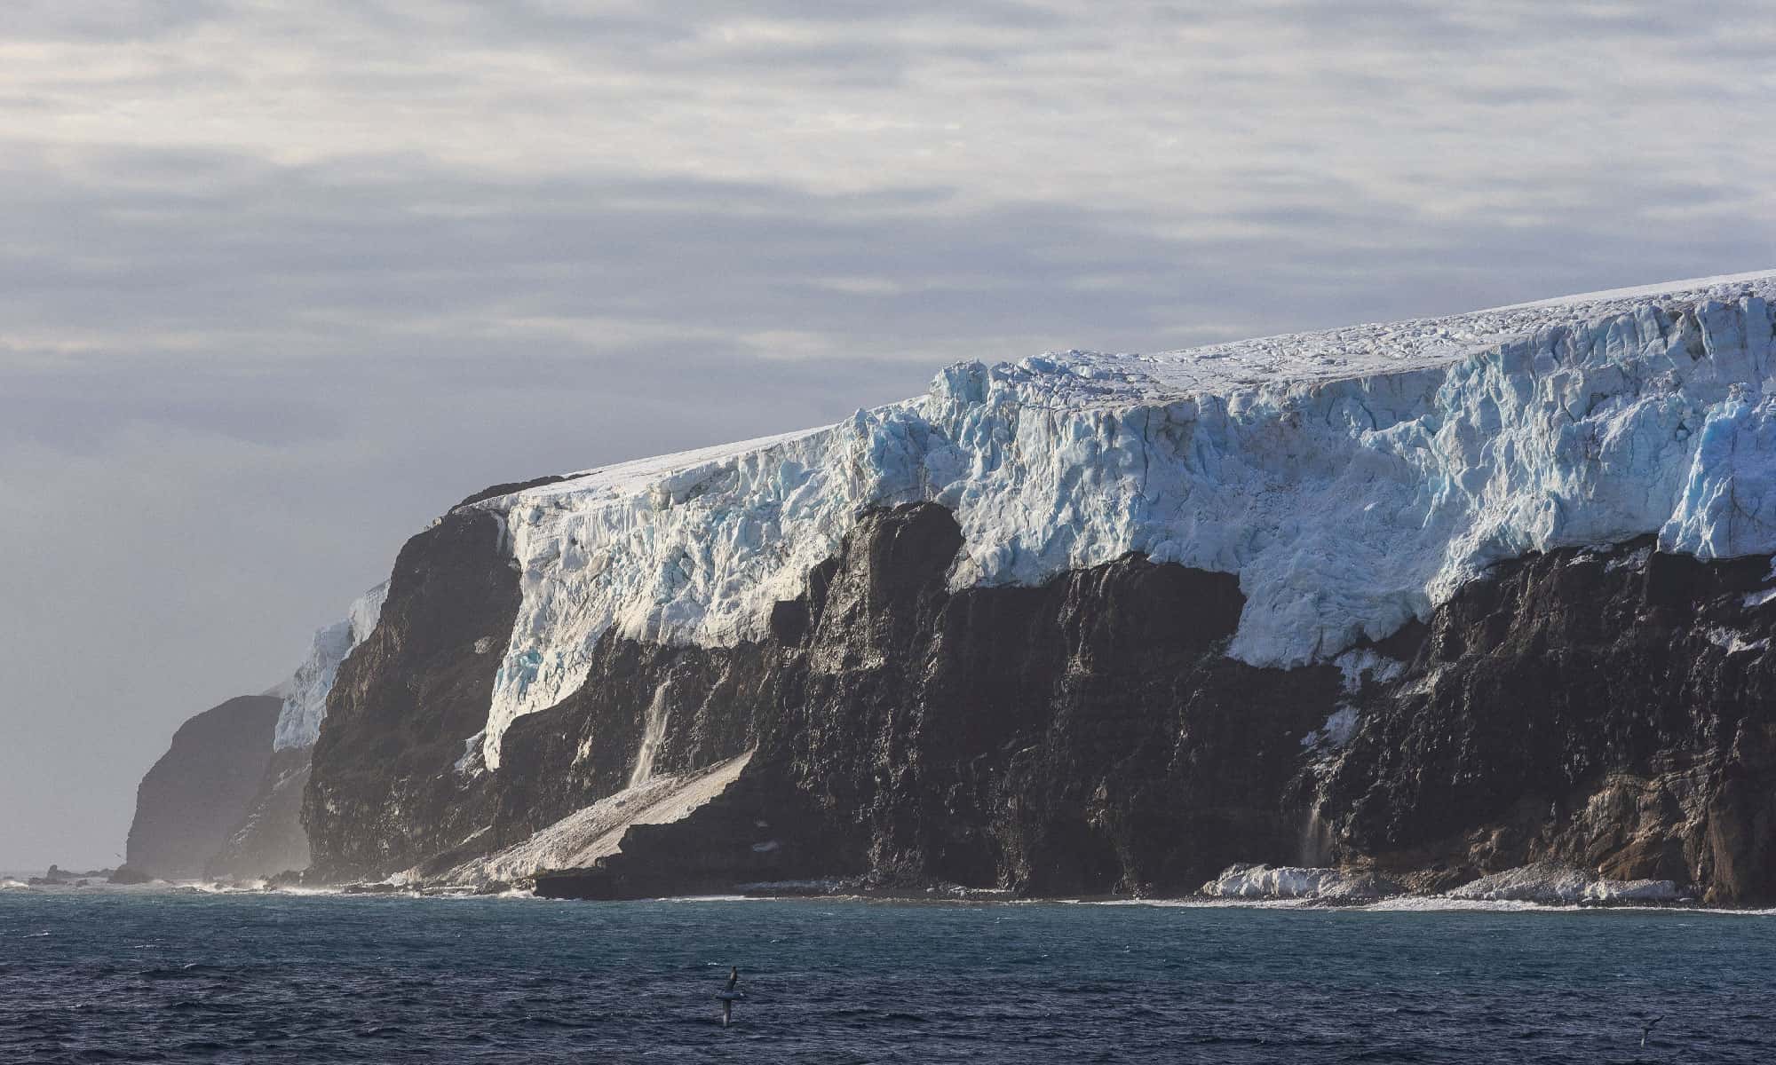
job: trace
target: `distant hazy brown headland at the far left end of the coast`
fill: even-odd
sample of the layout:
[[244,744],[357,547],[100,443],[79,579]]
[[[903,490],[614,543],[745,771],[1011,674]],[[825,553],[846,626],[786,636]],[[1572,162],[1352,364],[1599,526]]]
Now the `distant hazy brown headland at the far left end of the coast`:
[[281,706],[272,696],[240,696],[172,733],[137,788],[131,870],[167,880],[202,875],[259,788]]

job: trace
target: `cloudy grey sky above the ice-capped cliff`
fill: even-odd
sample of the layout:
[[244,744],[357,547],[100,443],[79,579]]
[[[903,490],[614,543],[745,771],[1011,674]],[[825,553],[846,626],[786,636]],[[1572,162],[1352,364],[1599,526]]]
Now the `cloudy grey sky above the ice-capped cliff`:
[[0,868],[471,492],[1156,351],[1776,266],[1776,20],[7,0]]

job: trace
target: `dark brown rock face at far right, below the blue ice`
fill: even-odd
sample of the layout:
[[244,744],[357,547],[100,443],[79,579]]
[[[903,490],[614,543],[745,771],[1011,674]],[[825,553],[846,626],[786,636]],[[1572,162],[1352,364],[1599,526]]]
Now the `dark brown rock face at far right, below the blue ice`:
[[1565,861],[1716,903],[1776,898],[1769,584],[1764,557],[1650,540],[1469,584],[1309,774],[1336,856],[1455,880]]

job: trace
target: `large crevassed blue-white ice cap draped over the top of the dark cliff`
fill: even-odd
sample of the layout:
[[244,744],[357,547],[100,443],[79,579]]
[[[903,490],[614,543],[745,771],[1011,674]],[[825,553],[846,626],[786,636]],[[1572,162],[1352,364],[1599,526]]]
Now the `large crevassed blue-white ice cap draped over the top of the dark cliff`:
[[1146,552],[1240,575],[1229,653],[1380,639],[1495,561],[1659,532],[1776,550],[1776,273],[1162,355],[964,362],[819,430],[588,470],[504,513],[522,605],[485,758],[570,694],[609,628],[762,635],[870,506],[936,501],[955,588]]

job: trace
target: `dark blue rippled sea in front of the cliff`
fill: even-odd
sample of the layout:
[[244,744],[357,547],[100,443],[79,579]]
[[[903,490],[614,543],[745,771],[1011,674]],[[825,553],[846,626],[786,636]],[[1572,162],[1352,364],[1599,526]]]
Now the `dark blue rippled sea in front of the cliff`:
[[1776,918],[12,889],[0,1061],[1767,1063]]

